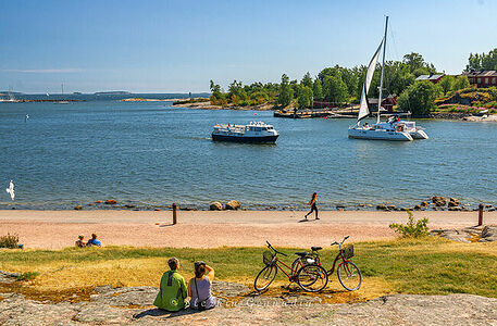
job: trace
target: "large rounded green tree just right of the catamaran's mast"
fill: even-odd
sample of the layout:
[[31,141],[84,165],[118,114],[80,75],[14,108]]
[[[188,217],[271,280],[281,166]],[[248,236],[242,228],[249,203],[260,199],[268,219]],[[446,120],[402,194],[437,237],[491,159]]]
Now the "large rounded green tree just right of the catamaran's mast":
[[399,108],[402,111],[410,111],[414,117],[427,116],[435,109],[434,101],[442,92],[438,85],[427,80],[417,82],[399,96]]

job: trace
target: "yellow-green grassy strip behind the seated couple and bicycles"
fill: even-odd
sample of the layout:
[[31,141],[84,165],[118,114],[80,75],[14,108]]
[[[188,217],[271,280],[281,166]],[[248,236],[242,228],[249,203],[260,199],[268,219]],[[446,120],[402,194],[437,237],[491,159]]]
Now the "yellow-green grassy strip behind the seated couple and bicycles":
[[[277,246],[277,243],[273,243]],[[363,272],[358,292],[369,299],[387,293],[448,294],[473,293],[497,298],[497,243],[459,243],[443,239],[394,240],[355,243],[352,259]],[[294,259],[297,249],[283,249]],[[158,286],[166,260],[177,256],[181,272],[192,276],[192,262],[203,260],[215,268],[216,278],[251,285],[262,267],[263,248],[152,249],[69,248],[60,251],[5,250],[0,269],[39,273],[17,283],[11,290],[36,297],[87,292],[95,286]],[[336,248],[322,251],[323,264],[331,266]],[[36,275],[36,274],[35,274]],[[336,275],[331,289],[341,290]],[[285,284],[281,273],[277,284]],[[5,286],[3,286],[3,290]]]

